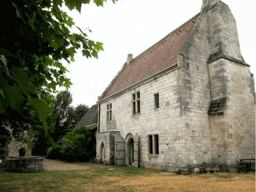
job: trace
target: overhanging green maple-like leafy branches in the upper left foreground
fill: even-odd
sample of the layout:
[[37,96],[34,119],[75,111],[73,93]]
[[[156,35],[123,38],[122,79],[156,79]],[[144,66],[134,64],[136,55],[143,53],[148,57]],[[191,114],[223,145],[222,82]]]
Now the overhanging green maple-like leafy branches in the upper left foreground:
[[[94,0],[103,6],[106,0]],[[114,3],[117,0],[112,0]],[[65,2],[65,3],[64,3]],[[81,12],[82,4],[90,0],[12,0],[1,3],[0,44],[0,113],[21,114],[22,106],[29,104],[35,110],[47,135],[46,118],[51,111],[41,97],[42,90],[55,92],[56,86],[69,88],[72,83],[65,76],[68,70],[61,63],[74,60],[78,49],[82,54],[98,58],[102,43],[92,41],[81,33],[71,33],[73,19],[61,10]],[[8,19],[4,19],[8,18]],[[91,32],[91,31],[89,31]],[[24,115],[24,114],[23,114]],[[11,116],[10,116],[11,117]],[[0,127],[8,119],[0,118]]]

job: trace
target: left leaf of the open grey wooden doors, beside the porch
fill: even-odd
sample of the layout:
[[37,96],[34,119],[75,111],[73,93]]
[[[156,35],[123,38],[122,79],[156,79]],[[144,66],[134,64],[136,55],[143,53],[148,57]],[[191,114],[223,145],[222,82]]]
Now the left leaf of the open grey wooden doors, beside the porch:
[[115,135],[115,165],[125,165],[124,139]]

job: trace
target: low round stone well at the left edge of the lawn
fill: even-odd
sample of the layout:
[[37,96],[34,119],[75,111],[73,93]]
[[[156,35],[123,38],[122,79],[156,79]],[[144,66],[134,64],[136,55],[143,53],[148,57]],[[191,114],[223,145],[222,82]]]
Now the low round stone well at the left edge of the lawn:
[[6,170],[17,173],[34,173],[43,170],[44,158],[40,156],[11,156],[7,158]]

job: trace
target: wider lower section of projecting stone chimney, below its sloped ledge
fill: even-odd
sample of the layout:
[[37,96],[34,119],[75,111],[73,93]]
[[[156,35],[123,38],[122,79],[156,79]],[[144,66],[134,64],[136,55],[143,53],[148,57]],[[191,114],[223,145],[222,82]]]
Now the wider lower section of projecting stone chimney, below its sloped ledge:
[[222,58],[209,64],[209,72],[213,98],[227,97],[224,113],[209,117],[213,161],[235,164],[236,159],[255,158],[255,101],[249,66]]

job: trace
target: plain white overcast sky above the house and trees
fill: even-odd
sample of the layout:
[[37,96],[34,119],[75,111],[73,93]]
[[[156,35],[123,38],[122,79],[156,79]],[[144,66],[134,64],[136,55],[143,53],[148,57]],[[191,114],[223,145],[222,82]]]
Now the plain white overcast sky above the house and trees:
[[[91,0],[93,1],[93,0]],[[255,67],[255,0],[222,0],[236,19],[240,49],[246,63]],[[200,12],[202,0],[119,0],[116,4],[107,0],[104,7],[92,2],[83,4],[81,15],[73,10],[68,15],[74,18],[75,25],[93,41],[103,43],[99,59],[75,55],[75,62],[67,66],[73,85],[70,88],[73,103],[91,107],[97,97],[126,62],[127,54],[133,58],[158,42],[184,22]],[[71,31],[79,33],[78,29]],[[254,77],[256,80],[256,77]],[[65,88],[61,88],[63,90]],[[60,90],[60,89],[59,89]]]

